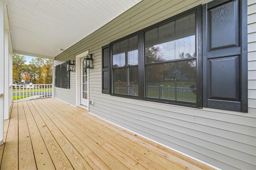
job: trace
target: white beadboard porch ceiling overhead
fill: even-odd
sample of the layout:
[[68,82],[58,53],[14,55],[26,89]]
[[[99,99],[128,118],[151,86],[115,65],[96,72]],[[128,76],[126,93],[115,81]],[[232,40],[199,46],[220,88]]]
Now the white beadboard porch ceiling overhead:
[[6,0],[13,52],[54,59],[140,0]]

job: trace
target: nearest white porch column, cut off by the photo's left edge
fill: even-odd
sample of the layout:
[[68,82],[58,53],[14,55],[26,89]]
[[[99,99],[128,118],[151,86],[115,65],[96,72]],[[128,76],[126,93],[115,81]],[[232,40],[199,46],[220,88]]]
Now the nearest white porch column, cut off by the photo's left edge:
[[[4,94],[4,0],[0,0],[0,96]],[[4,96],[0,97],[0,145],[4,139]]]

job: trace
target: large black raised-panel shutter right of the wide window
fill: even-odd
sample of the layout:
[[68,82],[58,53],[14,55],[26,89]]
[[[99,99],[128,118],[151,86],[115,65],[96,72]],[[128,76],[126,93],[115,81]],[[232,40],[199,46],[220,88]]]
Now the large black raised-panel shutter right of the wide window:
[[246,9],[240,0],[203,6],[204,107],[248,111]]

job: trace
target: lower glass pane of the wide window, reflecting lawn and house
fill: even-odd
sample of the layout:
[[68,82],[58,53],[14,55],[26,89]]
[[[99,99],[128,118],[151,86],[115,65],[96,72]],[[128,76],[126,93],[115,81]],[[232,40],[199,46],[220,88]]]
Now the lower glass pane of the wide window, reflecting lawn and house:
[[146,97],[196,103],[196,60],[146,66]]

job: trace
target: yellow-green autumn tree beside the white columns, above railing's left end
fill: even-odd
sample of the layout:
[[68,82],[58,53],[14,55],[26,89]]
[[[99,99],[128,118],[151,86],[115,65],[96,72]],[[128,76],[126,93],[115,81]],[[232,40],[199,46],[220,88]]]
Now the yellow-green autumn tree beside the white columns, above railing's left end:
[[22,80],[22,74],[25,72],[26,59],[22,55],[13,54],[12,56],[12,78],[16,83],[20,83]]

